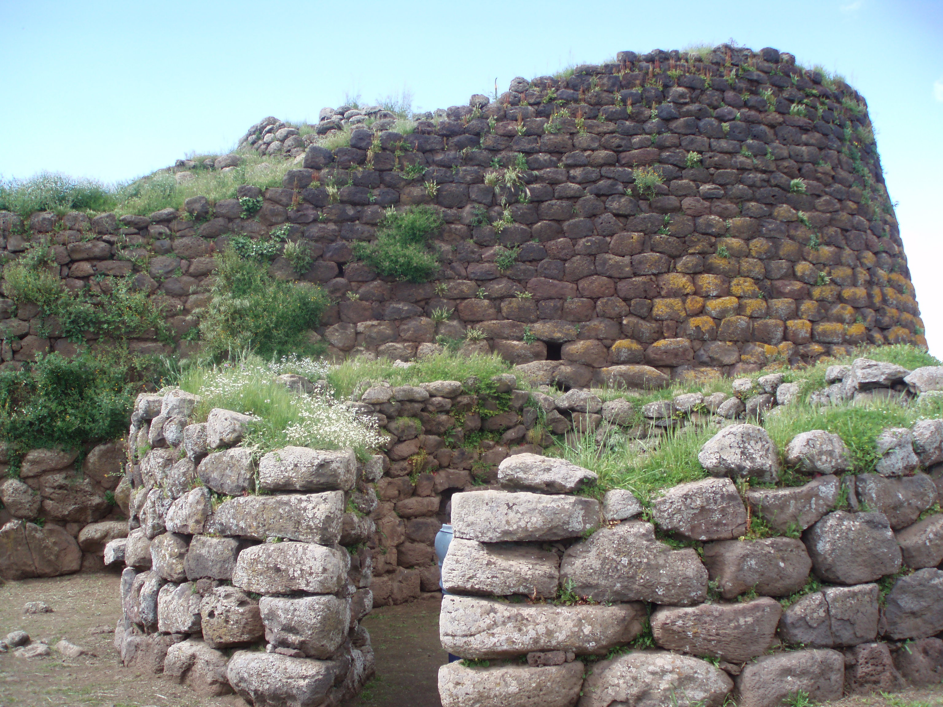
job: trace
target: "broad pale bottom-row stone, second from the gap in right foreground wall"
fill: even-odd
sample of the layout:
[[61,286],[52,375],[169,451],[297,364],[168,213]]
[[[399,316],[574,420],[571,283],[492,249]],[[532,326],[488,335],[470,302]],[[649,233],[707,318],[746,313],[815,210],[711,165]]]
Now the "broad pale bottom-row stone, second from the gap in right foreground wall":
[[725,672],[700,658],[666,650],[633,650],[593,666],[578,704],[720,707],[733,686]]

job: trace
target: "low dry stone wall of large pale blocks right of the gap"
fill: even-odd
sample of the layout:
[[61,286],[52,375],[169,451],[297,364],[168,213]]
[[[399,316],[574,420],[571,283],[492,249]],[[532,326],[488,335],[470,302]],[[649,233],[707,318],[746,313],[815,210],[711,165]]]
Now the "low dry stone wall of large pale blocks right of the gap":
[[[941,368],[868,359],[828,378],[819,404],[943,387]],[[794,385],[735,388],[788,405]],[[697,423],[689,397],[646,414]],[[802,433],[785,456],[808,482],[770,487],[780,453],[750,418],[703,445],[710,478],[647,507],[626,490],[581,495],[596,474],[527,452],[492,487],[455,494],[439,630],[464,660],[439,669],[442,704],[778,707],[800,690],[824,702],[937,684],[943,420],[885,430],[874,473],[852,473],[840,437]]]

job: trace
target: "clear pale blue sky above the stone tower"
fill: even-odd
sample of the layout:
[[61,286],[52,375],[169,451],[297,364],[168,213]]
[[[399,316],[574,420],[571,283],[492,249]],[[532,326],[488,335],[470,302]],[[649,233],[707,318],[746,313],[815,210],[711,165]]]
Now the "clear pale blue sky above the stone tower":
[[130,179],[345,94],[428,110],[622,50],[733,39],[867,98],[931,352],[943,356],[943,2],[0,0],[0,175]]

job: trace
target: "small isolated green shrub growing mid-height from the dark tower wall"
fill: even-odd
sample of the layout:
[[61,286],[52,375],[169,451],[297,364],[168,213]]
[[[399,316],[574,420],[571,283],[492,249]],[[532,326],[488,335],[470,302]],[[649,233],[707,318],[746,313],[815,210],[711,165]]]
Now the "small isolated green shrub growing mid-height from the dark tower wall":
[[438,255],[429,250],[429,238],[442,227],[442,217],[431,206],[388,209],[372,243],[354,243],[354,255],[381,275],[405,282],[428,282],[438,271]]

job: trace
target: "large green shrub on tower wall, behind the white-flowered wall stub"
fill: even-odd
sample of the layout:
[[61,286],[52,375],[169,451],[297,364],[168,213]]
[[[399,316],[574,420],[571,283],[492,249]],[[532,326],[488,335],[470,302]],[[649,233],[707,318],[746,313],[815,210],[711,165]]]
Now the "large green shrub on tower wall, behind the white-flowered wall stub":
[[306,332],[318,325],[327,307],[321,288],[275,280],[235,248],[227,248],[217,262],[213,298],[200,322],[207,354],[313,352]]

